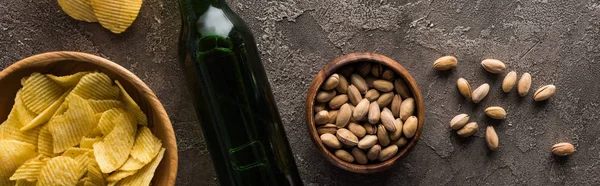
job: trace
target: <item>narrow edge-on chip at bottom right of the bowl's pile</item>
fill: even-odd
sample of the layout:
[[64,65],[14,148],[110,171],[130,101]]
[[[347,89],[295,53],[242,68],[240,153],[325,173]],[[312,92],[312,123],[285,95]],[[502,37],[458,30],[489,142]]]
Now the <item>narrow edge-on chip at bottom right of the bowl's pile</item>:
[[156,167],[158,167],[164,155],[165,149],[162,148],[152,162],[144,166],[144,168],[140,169],[134,175],[122,179],[118,184],[135,186],[150,185],[150,181],[152,181],[152,177],[154,177],[154,171],[156,171]]

